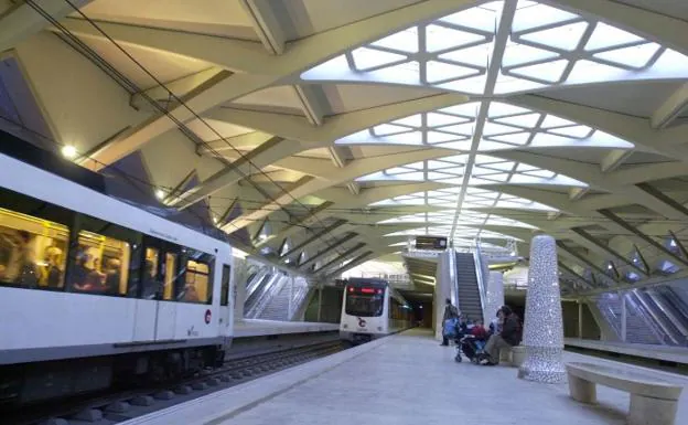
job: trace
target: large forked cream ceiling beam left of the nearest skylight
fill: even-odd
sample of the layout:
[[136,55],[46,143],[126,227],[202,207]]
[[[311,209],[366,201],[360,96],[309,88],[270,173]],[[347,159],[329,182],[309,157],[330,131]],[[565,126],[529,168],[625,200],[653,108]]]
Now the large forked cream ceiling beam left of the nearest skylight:
[[[251,42],[105,22],[99,25],[119,42],[203,60],[232,71],[223,72],[212,78],[212,82],[187,93],[183,102],[189,108],[179,105],[168,111],[178,121],[185,123],[196,114],[203,114],[281,81],[298,78],[314,64],[348,49],[383,38],[419,20],[439,18],[474,4],[473,0],[431,0],[415,3],[305,38],[290,44],[284,54],[277,56],[260,52],[256,49],[256,43]],[[64,25],[85,39],[104,38],[83,20],[69,19]],[[233,75],[235,72],[246,74]],[[158,113],[142,125],[111,140],[94,152],[93,157],[100,164],[110,164],[175,127],[178,124],[166,114]],[[103,166],[97,167],[98,170],[101,168]]]

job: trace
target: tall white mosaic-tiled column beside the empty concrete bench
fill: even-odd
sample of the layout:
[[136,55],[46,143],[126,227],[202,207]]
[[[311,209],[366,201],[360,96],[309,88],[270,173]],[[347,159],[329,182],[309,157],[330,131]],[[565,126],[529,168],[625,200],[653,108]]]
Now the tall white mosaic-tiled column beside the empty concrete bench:
[[518,369],[518,378],[544,383],[566,382],[557,244],[548,235],[535,236],[530,244],[523,344],[526,360]]

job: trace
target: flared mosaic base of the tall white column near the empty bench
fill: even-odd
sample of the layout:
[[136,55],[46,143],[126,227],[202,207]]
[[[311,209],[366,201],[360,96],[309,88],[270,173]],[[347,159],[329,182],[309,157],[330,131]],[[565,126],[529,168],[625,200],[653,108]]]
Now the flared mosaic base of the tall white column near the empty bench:
[[547,384],[567,381],[567,372],[561,360],[562,348],[526,347],[526,360],[518,368],[518,378]]

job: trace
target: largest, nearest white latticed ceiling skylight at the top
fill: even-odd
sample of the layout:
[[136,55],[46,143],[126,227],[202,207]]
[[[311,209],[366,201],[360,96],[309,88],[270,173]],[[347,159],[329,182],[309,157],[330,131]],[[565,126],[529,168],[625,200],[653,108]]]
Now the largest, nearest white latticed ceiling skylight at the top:
[[[566,84],[688,76],[688,57],[637,34],[535,1],[460,10],[354,49],[304,79],[375,81],[469,94],[505,94]],[[505,49],[498,22],[510,20]],[[501,54],[499,52],[504,52]],[[495,53],[496,52],[496,53]],[[496,54],[496,56],[495,56]],[[488,65],[498,61],[495,86]]]

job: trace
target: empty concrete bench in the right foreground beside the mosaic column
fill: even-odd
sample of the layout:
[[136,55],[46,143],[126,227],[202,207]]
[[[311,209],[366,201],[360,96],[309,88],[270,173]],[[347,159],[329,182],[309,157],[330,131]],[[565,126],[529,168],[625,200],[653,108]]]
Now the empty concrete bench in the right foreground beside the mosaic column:
[[628,425],[673,425],[682,387],[649,373],[591,363],[568,363],[571,397],[596,403],[595,384],[631,393]]

